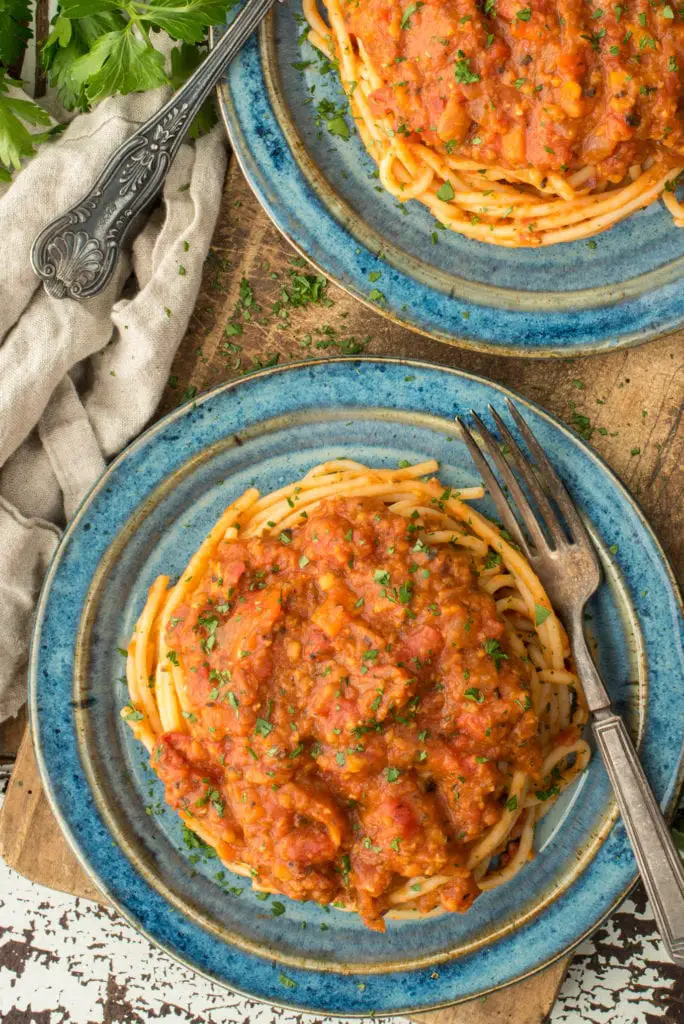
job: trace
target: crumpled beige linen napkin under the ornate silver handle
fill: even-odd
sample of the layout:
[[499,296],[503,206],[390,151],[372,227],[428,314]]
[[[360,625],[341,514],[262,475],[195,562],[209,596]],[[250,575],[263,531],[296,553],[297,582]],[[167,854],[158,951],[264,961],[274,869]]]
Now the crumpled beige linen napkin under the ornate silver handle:
[[61,528],[144,427],[168,379],[218,214],[221,129],[183,144],[162,206],[100,295],[50,298],[31,244],[167,94],[108,99],[80,115],[0,198],[0,721],[26,700],[34,605]]

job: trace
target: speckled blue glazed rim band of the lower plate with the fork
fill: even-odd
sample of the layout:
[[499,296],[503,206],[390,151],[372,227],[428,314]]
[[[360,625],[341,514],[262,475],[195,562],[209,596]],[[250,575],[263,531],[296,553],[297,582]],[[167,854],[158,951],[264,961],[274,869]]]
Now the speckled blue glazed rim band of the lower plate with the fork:
[[[413,370],[415,373],[421,374],[425,381],[433,381],[440,386],[443,386],[444,380],[448,378],[458,378],[473,385],[484,386],[496,394],[514,398],[518,404],[542,417],[554,429],[560,431],[563,440],[570,442],[573,455],[583,459],[585,464],[583,469],[592,470],[600,480],[606,481],[609,490],[615,494],[616,500],[626,504],[629,515],[633,517],[632,526],[637,531],[638,543],[649,549],[651,557],[654,557],[665,570],[668,587],[665,588],[661,595],[656,595],[655,606],[652,603],[653,599],[651,599],[650,605],[646,605],[643,597],[640,598],[636,594],[632,594],[636,611],[641,618],[645,639],[648,641],[650,638],[652,641],[654,637],[661,637],[664,620],[660,612],[672,622],[674,631],[678,631],[680,636],[684,636],[681,598],[667,557],[639,506],[611,470],[596,453],[582,443],[575,435],[540,407],[527,401],[510,389],[474,374],[424,360],[398,358],[341,357],[276,367],[224,384],[200,397],[196,403],[186,404],[174,411],[142,434],[111,464],[82,503],[55,552],[39,599],[32,637],[29,674],[31,725],[41,776],[52,809],[77,857],[98,887],[134,927],[166,952],[211,980],[250,997],[296,1010],[347,1017],[366,1016],[371,1009],[375,1013],[400,1014],[437,1009],[465,1001],[476,995],[486,994],[486,992],[520,981],[565,955],[598,927],[601,921],[605,920],[624,899],[635,881],[634,860],[622,823],[613,825],[601,849],[573,884],[572,890],[568,892],[567,896],[557,899],[545,909],[543,914],[494,945],[458,959],[446,961],[439,965],[438,972],[431,971],[430,968],[419,968],[394,971],[391,975],[378,975],[381,984],[379,991],[373,992],[373,1002],[369,1002],[369,995],[365,995],[364,990],[358,987],[361,981],[364,987],[367,987],[368,974],[328,974],[324,976],[320,972],[289,966],[287,969],[288,977],[295,981],[297,994],[293,995],[292,999],[285,998],[283,985],[279,980],[281,964],[259,955],[246,953],[226,945],[225,942],[207,933],[189,916],[174,909],[166,902],[159,892],[135,871],[122,850],[112,844],[112,836],[92,799],[88,778],[81,763],[74,701],[66,699],[72,695],[71,678],[76,655],[75,643],[72,642],[71,638],[75,638],[78,634],[84,604],[65,606],[59,603],[58,593],[56,597],[54,597],[54,593],[55,589],[58,591],[58,587],[55,588],[55,581],[59,582],[60,573],[63,575],[65,572],[69,571],[69,566],[65,568],[65,563],[70,542],[83,528],[85,514],[100,499],[101,492],[111,482],[111,478],[116,476],[127,460],[134,459],[145,446],[154,444],[160,435],[165,432],[168,434],[169,428],[175,426],[181,419],[187,418],[188,426],[191,427],[191,417],[196,408],[200,410],[198,415],[202,416],[203,407],[210,407],[215,399],[220,399],[221,396],[230,394],[241,387],[247,390],[252,389],[252,394],[254,394],[258,391],[259,382],[284,374],[294,374],[295,377],[301,374],[311,393],[314,390],[313,384],[318,390],[325,391],[326,375],[330,377],[335,375],[336,379],[339,378],[343,381],[346,378],[348,384],[349,378],[356,374],[359,369],[365,373],[375,374],[376,380],[379,379],[379,375],[387,374],[386,383],[391,385],[392,394],[400,390],[399,382],[404,379],[407,370]],[[296,386],[290,389],[281,387],[280,394],[284,408],[289,408],[292,411],[301,408],[301,400],[297,398]],[[337,408],[340,402],[339,399],[335,399],[334,401],[329,400],[328,404],[330,408]],[[404,399],[403,408],[415,410],[415,400],[411,403]],[[431,409],[430,412],[434,412],[434,410]],[[440,409],[439,413],[435,413],[435,415],[445,416],[446,414]],[[249,416],[248,419],[250,419]],[[256,417],[252,417],[250,422],[258,422],[258,420]],[[231,422],[232,429],[241,430],[243,427],[240,423],[232,424]],[[179,438],[180,434],[173,439],[175,441],[174,456],[176,465],[184,465],[190,457],[191,430],[188,429],[187,433],[183,435],[182,441]],[[167,469],[166,475],[168,476],[168,473],[173,470],[173,465],[168,466]],[[146,497],[156,486],[157,483],[153,486],[142,480],[139,487],[142,497]],[[77,573],[81,578],[78,586],[82,588],[83,602],[87,600],[90,579],[98,561],[109,550],[115,537],[116,534],[110,536],[101,555],[94,547],[92,550],[86,548],[87,564],[77,567]],[[626,567],[629,567],[629,563]],[[49,637],[50,631],[52,631],[55,638],[61,636],[68,639],[62,639],[61,646],[58,642],[48,643],[47,646],[44,646],[42,644],[43,631],[45,631],[46,637]],[[660,647],[656,644],[654,649],[655,659],[662,662],[664,655],[660,653]],[[656,665],[651,659],[649,662],[650,675],[655,678],[658,672],[665,675],[666,679],[661,681],[659,686],[649,687],[649,710],[653,706],[657,714],[666,715],[670,709],[668,707],[668,693],[664,692],[664,689],[667,690],[665,683],[672,669],[668,668],[667,665]],[[59,690],[60,682],[61,691]],[[65,689],[68,689],[68,693],[63,692]],[[651,742],[650,746],[652,748],[652,745]],[[657,744],[655,745],[657,746]],[[681,758],[681,750],[678,748],[676,752],[672,749],[666,751],[666,745],[664,744],[661,750],[650,751],[652,758],[654,757],[656,761],[655,770],[657,773],[657,777],[653,779],[651,776],[651,779],[660,803],[667,808],[672,808],[682,782],[682,765],[681,763],[679,766],[676,765],[677,760]],[[651,767],[653,766],[651,765]],[[74,799],[74,795],[76,795],[76,799]],[[613,865],[611,868],[613,882],[614,872],[617,871],[619,885],[610,887],[610,893],[613,897],[610,899],[610,905],[603,906],[596,914],[594,904],[604,892],[602,876],[605,876],[610,864]],[[570,931],[572,931],[572,928],[576,927],[576,919],[580,914],[586,922],[586,927],[580,926],[582,928],[581,934],[573,932],[570,941],[562,945],[562,948],[556,948],[546,958],[539,956],[540,936],[538,935],[537,951],[532,951],[535,943],[530,940],[533,939],[533,932],[538,929],[540,920],[544,919],[542,927],[546,928],[547,935],[553,936],[554,929],[559,927],[562,929],[563,925],[567,933],[568,923],[571,923]],[[544,936],[541,936],[541,940],[544,945]],[[519,961],[521,948],[524,954],[514,976],[511,976],[509,968],[511,943],[516,946]],[[470,989],[464,992],[464,977],[467,976],[470,976],[471,979],[470,982],[466,981],[466,984],[470,984]],[[485,977],[489,981],[483,986],[481,983],[474,982],[473,976],[476,978]],[[249,989],[245,989],[242,983],[242,979],[245,977],[250,978]],[[373,988],[375,989],[375,985]],[[455,995],[455,990],[459,989],[461,989],[461,994]]]

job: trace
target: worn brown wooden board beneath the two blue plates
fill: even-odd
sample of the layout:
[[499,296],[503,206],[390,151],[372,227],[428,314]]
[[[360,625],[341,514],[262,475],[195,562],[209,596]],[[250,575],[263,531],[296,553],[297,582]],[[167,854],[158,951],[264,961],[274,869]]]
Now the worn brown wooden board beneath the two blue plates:
[[[332,284],[314,284],[303,295],[297,291],[293,272],[315,273],[302,265],[270,224],[232,162],[202,292],[160,415],[195,390],[264,364],[357,349],[367,354],[432,359],[483,374],[546,406],[585,436],[591,435],[595,447],[638,496],[676,569],[682,569],[684,332],[640,348],[590,358],[505,358],[423,338],[391,324]],[[308,301],[298,304],[298,297]],[[236,315],[239,306],[244,311],[246,302],[251,312],[248,322]],[[9,742],[10,729],[0,727],[0,750]],[[104,902],[50,812],[28,732],[0,810],[0,854],[22,874],[42,885]],[[418,1015],[416,1020],[426,1024],[542,1024],[567,964],[563,959],[483,1000]]]

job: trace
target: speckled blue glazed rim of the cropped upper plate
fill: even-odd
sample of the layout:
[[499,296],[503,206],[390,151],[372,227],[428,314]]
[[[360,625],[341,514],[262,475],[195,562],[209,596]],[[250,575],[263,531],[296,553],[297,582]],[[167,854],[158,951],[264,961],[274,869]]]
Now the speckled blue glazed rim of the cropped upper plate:
[[[212,30],[212,43],[221,31]],[[662,278],[665,283],[646,285],[637,294],[630,294],[634,282],[626,281],[596,289],[600,297],[595,305],[578,300],[576,306],[554,309],[549,301],[548,307],[529,310],[515,308],[517,300],[524,305],[525,293],[513,292],[510,308],[470,301],[467,295],[455,300],[396,262],[379,258],[345,227],[342,218],[348,211],[343,202],[339,206],[332,186],[324,181],[316,189],[297,160],[296,151],[302,150],[298,135],[292,126],[284,128],[282,112],[271,100],[279,88],[272,67],[272,32],[271,11],[219,83],[222,120],[242,171],[275,227],[354,298],[402,327],[448,344],[538,358],[631,347],[673,333],[684,324],[681,276],[668,280],[659,270],[643,275],[644,280]],[[336,206],[342,211],[340,219],[333,213]],[[382,274],[383,303],[370,298],[369,275],[377,273]],[[465,287],[467,293],[467,283]],[[472,291],[476,294],[477,288],[473,286]],[[552,300],[553,293],[548,298]]]

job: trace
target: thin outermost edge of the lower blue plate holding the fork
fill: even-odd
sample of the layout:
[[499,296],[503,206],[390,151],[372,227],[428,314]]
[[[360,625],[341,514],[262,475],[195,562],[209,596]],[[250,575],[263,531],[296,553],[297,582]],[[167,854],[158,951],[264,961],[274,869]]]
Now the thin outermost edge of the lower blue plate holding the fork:
[[[594,460],[594,462],[598,465],[599,469],[605,475],[607,475],[612,485],[617,487],[623,497],[632,506],[635,514],[639,519],[642,528],[644,528],[648,532],[651,543],[654,546],[658,560],[661,566],[665,568],[666,575],[670,584],[671,594],[674,598],[678,614],[683,622],[684,622],[684,599],[682,597],[682,593],[680,591],[680,587],[677,582],[676,575],[674,573],[674,569],[670,562],[670,559],[667,553],[665,552],[662,545],[660,544],[655,531],[650,526],[648,519],[646,518],[646,515],[643,512],[640,504],[638,503],[636,498],[634,498],[634,496],[630,494],[630,492],[623,483],[623,481],[619,479],[619,477],[616,475],[616,473],[610,468],[610,466],[607,465],[605,460],[602,458],[601,455],[599,455],[598,452],[596,452],[583,438],[581,438],[573,431],[571,431],[566,424],[558,420],[552,413],[550,413],[543,407],[539,406],[536,401],[521,395],[515,389],[508,387],[508,385],[500,384],[499,382],[490,380],[489,378],[483,377],[479,374],[465,371],[456,367],[446,367],[439,362],[435,362],[429,359],[412,359],[399,356],[373,356],[373,355],[335,356],[331,358],[319,357],[315,359],[301,359],[293,362],[288,362],[283,366],[269,367],[264,370],[259,370],[254,373],[246,374],[244,377],[240,377],[230,381],[223,382],[222,384],[218,384],[217,386],[198,395],[197,398],[184,402],[183,404],[177,407],[176,409],[171,410],[165,416],[161,417],[149,427],[147,427],[144,431],[142,431],[128,445],[126,445],[126,447],[124,447],[123,451],[119,453],[119,455],[117,455],[115,459],[113,459],[112,462],[106,466],[104,472],[97,478],[97,480],[95,480],[95,482],[92,484],[92,486],[89,488],[87,494],[82,499],[71,520],[69,521],[67,527],[65,528],[61,535],[59,543],[55,548],[55,551],[50,559],[50,563],[45,573],[45,578],[40,590],[40,595],[36,604],[34,626],[32,629],[31,644],[29,651],[28,691],[29,691],[29,725],[31,730],[31,737],[33,741],[34,753],[36,756],[36,762],[39,768],[41,782],[43,784],[45,795],[48,799],[50,809],[59,824],[62,835],[67,839],[67,842],[72,852],[75,854],[77,860],[79,861],[80,865],[84,868],[88,877],[95,883],[97,889],[100,892],[102,892],[102,894],[110,900],[110,902],[117,909],[117,911],[121,913],[121,915],[138,933],[142,934],[154,946],[161,949],[167,955],[170,955],[174,961],[183,965],[185,968],[188,968],[196,974],[202,975],[209,981],[219,984],[230,991],[238,992],[239,994],[244,995],[246,998],[252,999],[257,1002],[264,1002],[266,1005],[276,1006],[283,1009],[295,1010],[303,1013],[313,1013],[313,1014],[326,1013],[331,1017],[362,1018],[369,1016],[371,1008],[369,1008],[369,1010],[360,1010],[358,1012],[353,1010],[336,1012],[336,1011],[331,1011],[328,1008],[316,1009],[313,1006],[306,1006],[296,1001],[290,1001],[287,998],[274,998],[270,995],[268,996],[267,999],[261,998],[260,996],[254,995],[253,992],[250,992],[247,989],[239,987],[234,984],[229,984],[223,978],[219,977],[216,973],[214,973],[212,970],[198,967],[197,964],[195,964],[188,956],[185,956],[181,951],[170,946],[168,940],[161,939],[157,936],[152,935],[148,929],[144,927],[138,920],[136,920],[134,912],[132,910],[129,910],[126,906],[122,905],[120,900],[112,894],[110,884],[108,882],[104,882],[100,878],[100,876],[97,873],[97,868],[90,863],[89,857],[80,848],[75,831],[72,825],[68,822],[66,814],[61,811],[58,798],[53,788],[52,779],[48,771],[47,764],[45,762],[44,752],[41,744],[41,724],[40,724],[39,709],[37,707],[38,705],[37,692],[39,686],[37,679],[38,676],[37,670],[40,660],[40,653],[39,653],[40,632],[44,618],[45,609],[50,597],[52,580],[59,567],[59,563],[61,561],[62,554],[67,549],[68,543],[71,540],[72,535],[76,531],[81,518],[89,508],[94,498],[99,494],[100,489],[106,485],[110,476],[115,472],[120,463],[122,463],[131,454],[133,454],[134,452],[138,451],[140,447],[148,443],[157,433],[165,429],[169,424],[173,423],[176,420],[181,419],[184,415],[190,412],[191,409],[212,400],[221,393],[230,392],[236,388],[240,387],[240,385],[243,383],[249,383],[256,379],[274,377],[281,374],[287,374],[288,372],[293,370],[296,371],[296,370],[309,369],[312,367],[322,367],[322,366],[325,367],[329,365],[340,365],[340,364],[347,364],[351,366],[354,365],[357,366],[358,364],[394,365],[404,368],[415,368],[428,371],[437,371],[438,373],[446,373],[451,376],[466,378],[467,380],[472,380],[478,384],[485,384],[488,387],[494,387],[503,395],[512,396],[517,401],[521,402],[523,406],[531,408],[531,410],[535,413],[537,413],[538,415],[542,416],[544,419],[549,421],[555,428],[560,429],[560,431],[566,437],[568,437],[573,443],[579,444],[580,447],[583,449],[584,452],[592,460]],[[110,544],[113,543],[113,541],[114,539],[110,541]],[[682,749],[682,754],[684,754],[684,746]],[[674,780],[673,791],[670,800],[668,801],[667,809],[665,812],[667,819],[671,818],[674,808],[677,805],[677,802],[679,800],[680,794],[683,788],[684,788],[684,756],[680,755],[679,770],[677,773],[677,777]],[[613,822],[608,835],[612,834],[616,824],[617,824],[617,818]],[[627,896],[635,887],[638,880],[639,880],[639,874],[638,872],[636,872],[629,881],[629,883],[626,885],[625,889],[616,896],[611,905],[605,910],[605,912],[599,919],[593,922],[592,925],[582,933],[582,935],[573,939],[571,943],[564,946],[560,951],[553,953],[551,956],[548,957],[548,959],[545,959],[543,963],[537,965],[530,970],[523,971],[520,974],[516,974],[514,978],[511,978],[505,982],[490,985],[482,990],[479,990],[475,995],[470,994],[465,996],[459,996],[455,999],[446,999],[446,1000],[442,999],[436,1002],[420,1005],[418,1008],[407,1006],[401,1009],[391,1010],[390,1012],[380,1011],[379,1014],[382,1016],[401,1016],[405,1015],[407,1013],[416,1013],[416,1012],[424,1013],[424,1012],[429,1012],[431,1010],[439,1010],[451,1006],[458,1006],[459,1004],[467,1002],[469,999],[473,997],[481,997],[483,995],[488,995],[495,991],[507,988],[511,985],[516,984],[519,981],[523,981],[526,978],[539,974],[541,971],[546,970],[547,968],[553,966],[563,957],[570,954],[572,950],[574,950],[588,936],[590,936],[593,932],[595,932],[596,929],[598,929],[603,924],[603,922],[610,916],[610,914],[616,909],[616,907],[619,906],[619,904],[627,898]],[[144,882],[144,880],[142,881]],[[239,951],[243,952],[243,950]],[[248,955],[255,955],[255,954],[248,954]],[[260,957],[260,959],[262,959],[265,963],[266,961],[269,959],[269,957],[267,955],[263,955]],[[450,963],[450,961],[445,961],[445,963],[447,964]],[[315,971],[311,972],[312,975],[315,975],[315,973],[316,973]],[[380,975],[380,977],[382,977],[382,975]]]

